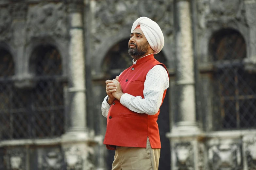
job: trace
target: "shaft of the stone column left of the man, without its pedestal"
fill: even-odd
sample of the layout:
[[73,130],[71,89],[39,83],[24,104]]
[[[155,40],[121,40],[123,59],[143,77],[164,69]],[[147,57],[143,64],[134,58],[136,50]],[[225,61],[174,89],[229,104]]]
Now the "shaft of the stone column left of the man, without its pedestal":
[[69,4],[69,110],[68,133],[86,134],[85,60],[83,39],[83,3]]

